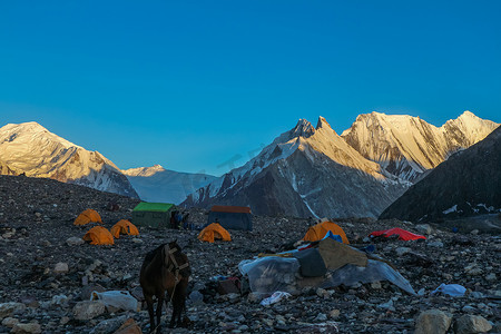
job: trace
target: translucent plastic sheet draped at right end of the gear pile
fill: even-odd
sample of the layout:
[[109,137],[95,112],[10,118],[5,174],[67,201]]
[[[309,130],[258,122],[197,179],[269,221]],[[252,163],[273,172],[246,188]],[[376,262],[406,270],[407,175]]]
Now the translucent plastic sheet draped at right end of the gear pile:
[[407,279],[405,279],[399,272],[393,269],[386,263],[381,261],[369,259],[366,267],[356,265],[345,265],[332,273],[331,278],[325,281],[321,287],[331,288],[338,285],[353,286],[357,283],[372,283],[379,281],[389,281],[401,289],[415,295],[414,289]]

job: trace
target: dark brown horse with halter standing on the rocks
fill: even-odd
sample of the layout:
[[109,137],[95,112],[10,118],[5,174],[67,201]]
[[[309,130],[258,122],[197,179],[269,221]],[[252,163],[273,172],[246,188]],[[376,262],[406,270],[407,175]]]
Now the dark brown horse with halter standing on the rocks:
[[[169,327],[183,326],[181,313],[185,311],[186,289],[191,274],[189,261],[176,240],[163,244],[149,252],[143,262],[139,283],[148,305],[150,333],[160,332],[161,305],[173,301],[173,317]],[[167,298],[165,293],[167,291]],[[157,297],[157,327],[155,326],[154,301]],[[176,322],[177,320],[177,322]]]

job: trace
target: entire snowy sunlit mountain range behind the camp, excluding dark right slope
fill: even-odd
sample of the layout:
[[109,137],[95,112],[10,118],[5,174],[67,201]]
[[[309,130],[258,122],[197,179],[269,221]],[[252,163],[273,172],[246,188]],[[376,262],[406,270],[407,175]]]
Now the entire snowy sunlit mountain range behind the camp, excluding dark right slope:
[[0,174],[26,174],[99,190],[208,208],[250,206],[259,215],[377,217],[452,154],[499,125],[470,111],[434,127],[419,117],[360,115],[337,135],[323,118],[275,138],[255,158],[222,177],[159,165],[120,170],[37,122],[0,128]]

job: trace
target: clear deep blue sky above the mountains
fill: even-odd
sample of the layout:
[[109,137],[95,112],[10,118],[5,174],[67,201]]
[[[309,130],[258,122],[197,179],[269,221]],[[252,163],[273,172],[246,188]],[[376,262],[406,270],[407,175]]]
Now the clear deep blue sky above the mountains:
[[0,126],[220,175],[299,118],[499,122],[500,16],[497,0],[2,1]]

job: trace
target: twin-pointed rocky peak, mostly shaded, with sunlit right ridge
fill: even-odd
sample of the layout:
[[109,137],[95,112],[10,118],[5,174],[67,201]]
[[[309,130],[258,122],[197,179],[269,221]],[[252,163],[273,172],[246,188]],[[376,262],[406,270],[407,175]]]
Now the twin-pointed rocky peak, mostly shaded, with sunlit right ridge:
[[[356,190],[350,188],[352,183]],[[254,159],[191,194],[184,205],[250,205],[265,215],[350,216],[361,210],[374,216],[394,199],[384,193],[393,186],[376,163],[362,157],[320,117],[316,129],[301,119]],[[369,198],[366,193],[374,191],[379,195]]]

